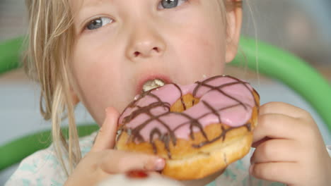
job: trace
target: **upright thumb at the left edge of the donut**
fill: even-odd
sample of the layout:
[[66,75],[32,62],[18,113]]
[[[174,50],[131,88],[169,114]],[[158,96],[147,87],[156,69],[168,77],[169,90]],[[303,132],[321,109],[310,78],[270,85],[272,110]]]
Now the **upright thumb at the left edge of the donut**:
[[110,107],[105,110],[105,121],[98,132],[98,136],[95,139],[91,151],[102,151],[114,148],[119,116],[120,113],[114,108]]

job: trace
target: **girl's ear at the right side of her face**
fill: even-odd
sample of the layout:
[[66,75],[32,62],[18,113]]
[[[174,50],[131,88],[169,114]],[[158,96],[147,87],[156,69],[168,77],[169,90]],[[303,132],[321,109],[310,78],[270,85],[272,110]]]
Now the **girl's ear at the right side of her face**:
[[[240,39],[241,24],[243,21],[243,8],[237,6],[241,0],[230,0],[231,8],[227,8],[228,21],[226,30],[226,63],[230,63],[236,57]],[[233,5],[232,5],[233,4]]]

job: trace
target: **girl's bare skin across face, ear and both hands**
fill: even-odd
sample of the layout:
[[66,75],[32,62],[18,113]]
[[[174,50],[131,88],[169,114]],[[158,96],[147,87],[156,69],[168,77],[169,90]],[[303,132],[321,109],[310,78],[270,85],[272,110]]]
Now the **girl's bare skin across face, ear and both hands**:
[[[72,92],[101,129],[92,150],[66,185],[95,185],[112,174],[132,169],[162,170],[163,159],[113,149],[119,111],[134,98],[137,80],[143,75],[162,73],[172,82],[190,84],[202,75],[223,74],[225,64],[236,56],[241,9],[227,12],[226,32],[216,1],[182,2],[176,8],[162,9],[158,8],[160,1],[154,0],[71,0],[76,30],[69,63]],[[86,30],[86,24],[99,16],[113,21],[97,30]],[[260,112],[254,134],[257,150],[252,156],[252,175],[289,185],[316,185],[308,180],[312,178],[326,185],[330,180],[326,175],[331,170],[330,158],[310,115],[281,103],[262,106]],[[275,120],[282,124],[274,125]],[[279,130],[272,130],[276,127]],[[294,152],[296,156],[288,155]],[[185,185],[205,185],[219,174]]]

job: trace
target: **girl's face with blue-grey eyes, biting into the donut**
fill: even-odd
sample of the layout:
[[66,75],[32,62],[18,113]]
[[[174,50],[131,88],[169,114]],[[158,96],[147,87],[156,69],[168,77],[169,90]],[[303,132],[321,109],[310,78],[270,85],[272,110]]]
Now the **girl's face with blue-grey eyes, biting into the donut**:
[[147,80],[185,85],[223,73],[226,28],[216,1],[71,0],[71,8],[71,85],[99,124],[106,107],[121,112]]

